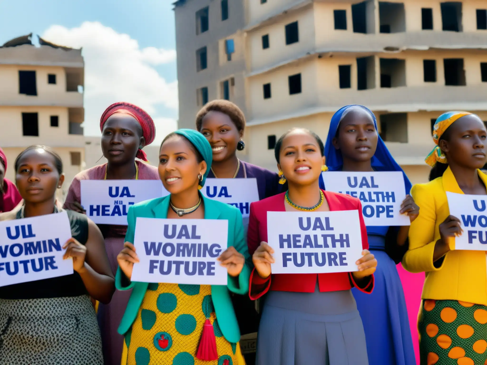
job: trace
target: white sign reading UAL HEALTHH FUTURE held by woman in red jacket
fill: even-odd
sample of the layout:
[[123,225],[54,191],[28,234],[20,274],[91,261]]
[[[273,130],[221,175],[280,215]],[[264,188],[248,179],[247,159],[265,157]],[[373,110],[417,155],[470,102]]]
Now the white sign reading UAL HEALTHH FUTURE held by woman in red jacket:
[[358,210],[267,212],[267,240],[272,274],[353,272],[362,257]]

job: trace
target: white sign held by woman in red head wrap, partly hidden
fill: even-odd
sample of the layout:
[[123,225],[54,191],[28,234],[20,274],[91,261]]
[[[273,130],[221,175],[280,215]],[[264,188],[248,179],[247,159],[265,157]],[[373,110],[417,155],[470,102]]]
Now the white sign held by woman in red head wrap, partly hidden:
[[131,205],[166,195],[160,180],[81,180],[81,205],[97,224],[127,225]]

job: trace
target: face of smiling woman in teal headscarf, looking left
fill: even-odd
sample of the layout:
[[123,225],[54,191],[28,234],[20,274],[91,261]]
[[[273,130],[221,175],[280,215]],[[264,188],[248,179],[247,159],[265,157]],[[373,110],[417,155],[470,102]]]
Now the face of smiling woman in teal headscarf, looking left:
[[171,194],[198,189],[198,175],[206,172],[206,162],[198,163],[194,147],[180,135],[170,137],[159,152],[159,176]]

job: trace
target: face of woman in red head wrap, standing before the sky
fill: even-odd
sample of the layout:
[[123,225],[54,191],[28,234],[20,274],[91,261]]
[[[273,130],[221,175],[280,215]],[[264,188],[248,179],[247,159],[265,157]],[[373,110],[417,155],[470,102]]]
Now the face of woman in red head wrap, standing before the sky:
[[103,126],[101,149],[103,156],[113,164],[135,160],[139,146],[145,146],[142,127],[129,114],[115,113]]

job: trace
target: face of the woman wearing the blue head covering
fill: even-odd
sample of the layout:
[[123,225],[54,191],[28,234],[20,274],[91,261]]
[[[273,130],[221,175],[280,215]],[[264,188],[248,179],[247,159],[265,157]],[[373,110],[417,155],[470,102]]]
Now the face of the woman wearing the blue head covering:
[[344,159],[365,162],[372,159],[377,148],[378,135],[374,120],[363,109],[350,110],[338,126],[338,136],[333,146],[341,151]]

